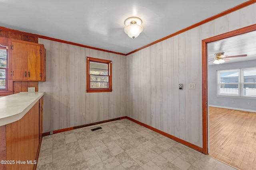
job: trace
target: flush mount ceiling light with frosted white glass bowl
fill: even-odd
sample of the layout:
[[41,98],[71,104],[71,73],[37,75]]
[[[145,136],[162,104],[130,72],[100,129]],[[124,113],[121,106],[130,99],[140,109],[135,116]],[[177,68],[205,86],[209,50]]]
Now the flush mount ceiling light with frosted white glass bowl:
[[130,17],[124,20],[124,32],[131,38],[136,38],[143,31],[142,20],[138,17]]

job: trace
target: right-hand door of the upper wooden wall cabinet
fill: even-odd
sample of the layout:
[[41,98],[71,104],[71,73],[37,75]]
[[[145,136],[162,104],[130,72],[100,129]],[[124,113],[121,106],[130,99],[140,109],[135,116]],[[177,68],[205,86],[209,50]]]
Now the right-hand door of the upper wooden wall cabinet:
[[28,80],[41,80],[41,50],[40,45],[27,45]]

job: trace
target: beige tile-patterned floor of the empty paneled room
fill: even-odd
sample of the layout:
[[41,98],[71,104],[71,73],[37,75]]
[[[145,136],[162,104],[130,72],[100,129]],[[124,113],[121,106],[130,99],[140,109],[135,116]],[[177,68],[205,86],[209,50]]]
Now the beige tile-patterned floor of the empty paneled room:
[[37,169],[235,170],[128,119],[43,137]]

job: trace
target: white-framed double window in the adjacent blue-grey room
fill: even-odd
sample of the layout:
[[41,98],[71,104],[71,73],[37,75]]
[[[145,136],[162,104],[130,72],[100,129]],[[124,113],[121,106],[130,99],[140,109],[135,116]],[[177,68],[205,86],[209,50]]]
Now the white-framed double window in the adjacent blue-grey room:
[[256,98],[256,68],[217,71],[217,95]]

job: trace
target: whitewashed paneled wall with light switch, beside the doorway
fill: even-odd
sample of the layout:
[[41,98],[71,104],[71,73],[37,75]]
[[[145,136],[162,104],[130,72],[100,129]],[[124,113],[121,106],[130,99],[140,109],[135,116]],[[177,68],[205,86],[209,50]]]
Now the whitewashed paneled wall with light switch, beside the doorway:
[[127,116],[202,147],[201,41],[255,24],[255,16],[252,4],[128,55]]

